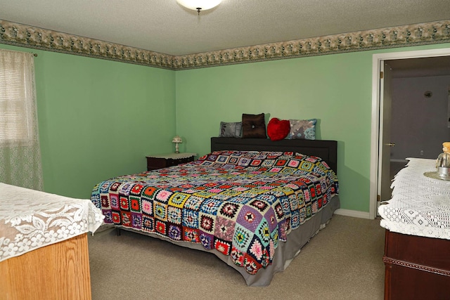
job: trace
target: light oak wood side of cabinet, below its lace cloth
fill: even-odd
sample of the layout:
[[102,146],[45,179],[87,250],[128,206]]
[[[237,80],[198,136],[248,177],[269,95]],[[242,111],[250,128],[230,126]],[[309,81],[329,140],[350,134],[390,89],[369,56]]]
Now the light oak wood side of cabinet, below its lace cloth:
[[90,300],[87,234],[0,262],[2,300]]

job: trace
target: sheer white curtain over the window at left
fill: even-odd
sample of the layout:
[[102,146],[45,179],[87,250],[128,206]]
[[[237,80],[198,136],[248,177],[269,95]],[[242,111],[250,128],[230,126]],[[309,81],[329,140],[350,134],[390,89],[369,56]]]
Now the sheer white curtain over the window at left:
[[0,49],[0,182],[43,190],[32,53]]

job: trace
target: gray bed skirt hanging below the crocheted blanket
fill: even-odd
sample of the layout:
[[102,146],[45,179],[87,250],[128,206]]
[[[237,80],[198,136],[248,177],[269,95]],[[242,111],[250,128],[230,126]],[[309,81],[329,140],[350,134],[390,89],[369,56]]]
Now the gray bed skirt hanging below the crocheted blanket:
[[226,256],[221,254],[216,249],[205,249],[202,244],[195,244],[191,242],[176,242],[174,240],[170,240],[168,237],[163,237],[161,235],[156,235],[153,233],[143,233],[141,231],[131,230],[129,228],[117,228],[129,230],[134,233],[140,233],[143,235],[148,235],[150,237],[157,237],[160,240],[165,240],[167,242],[172,242],[173,244],[187,247],[191,249],[200,250],[203,252],[210,252],[217,256],[221,261],[224,261],[227,265],[231,266],[235,270],[237,270],[240,275],[243,276],[245,283],[251,287],[264,287],[270,285],[272,278],[275,273],[282,272],[287,268],[291,261],[300,253],[300,249],[311,240],[311,237],[314,237],[316,233],[319,232],[322,228],[326,226],[326,223],[330,221],[333,213],[336,209],[340,208],[340,200],[339,196],[333,197],[330,202],[325,207],[322,207],[320,211],[318,211],[314,216],[311,217],[308,221],[303,223],[299,228],[295,230],[291,230],[288,235],[288,240],[286,242],[279,242],[278,247],[275,250],[274,260],[272,264],[267,268],[259,269],[255,275],[251,275],[245,271],[245,268],[240,266],[236,266],[233,261],[231,261],[230,256]]

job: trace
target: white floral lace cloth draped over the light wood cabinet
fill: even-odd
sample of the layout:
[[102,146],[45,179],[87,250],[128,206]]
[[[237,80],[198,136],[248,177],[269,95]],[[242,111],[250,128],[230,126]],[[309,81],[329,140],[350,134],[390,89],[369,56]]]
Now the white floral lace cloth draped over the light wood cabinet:
[[94,233],[103,218],[90,200],[0,183],[0,261]]

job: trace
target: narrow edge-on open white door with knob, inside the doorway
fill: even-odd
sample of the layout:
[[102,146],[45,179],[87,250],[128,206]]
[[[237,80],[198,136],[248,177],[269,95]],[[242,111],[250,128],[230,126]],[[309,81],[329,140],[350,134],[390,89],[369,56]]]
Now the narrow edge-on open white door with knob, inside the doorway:
[[385,60],[380,61],[380,145],[378,161],[378,194],[380,201],[391,198],[390,158],[391,147],[391,67]]

